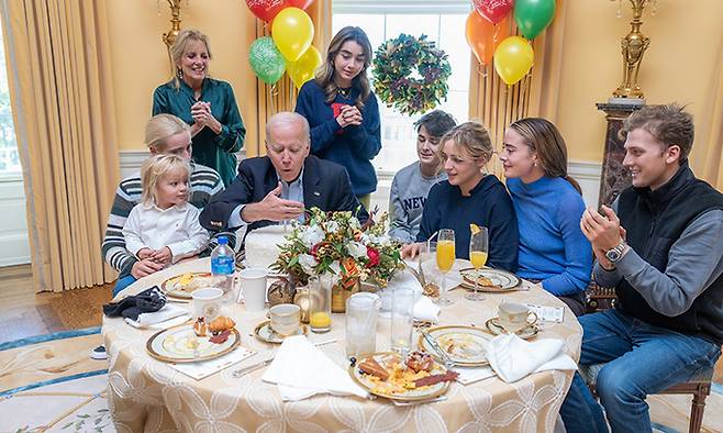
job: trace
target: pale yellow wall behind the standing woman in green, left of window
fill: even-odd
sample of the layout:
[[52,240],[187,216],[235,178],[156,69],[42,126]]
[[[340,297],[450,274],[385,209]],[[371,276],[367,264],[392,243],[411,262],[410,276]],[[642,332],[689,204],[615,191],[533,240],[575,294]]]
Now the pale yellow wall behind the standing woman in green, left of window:
[[[187,0],[182,7],[181,25],[209,35],[213,55],[210,73],[231,82],[244,122],[253,124],[255,120],[245,113],[249,112],[246,107],[256,103],[256,80],[251,80],[248,47],[242,41],[245,32],[255,32],[249,27],[255,23],[246,3]],[[153,90],[170,79],[166,45],[160,38],[170,29],[170,10],[165,0],[109,1],[107,8],[119,148],[144,149],[143,127],[151,115]],[[246,89],[251,91],[245,95]],[[255,137],[255,132],[248,134],[247,142]]]

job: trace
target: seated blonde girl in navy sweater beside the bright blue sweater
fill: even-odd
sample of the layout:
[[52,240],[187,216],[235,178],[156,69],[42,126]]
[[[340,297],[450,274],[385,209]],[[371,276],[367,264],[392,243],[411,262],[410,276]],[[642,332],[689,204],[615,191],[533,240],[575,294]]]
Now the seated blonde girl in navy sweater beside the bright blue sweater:
[[430,189],[415,244],[405,245],[403,256],[415,257],[420,243],[441,229],[455,231],[457,258],[469,258],[469,224],[489,231],[488,265],[514,271],[518,267],[518,220],[504,185],[485,174],[492,157],[492,143],[485,126],[461,123],[442,138],[440,157],[447,180]]

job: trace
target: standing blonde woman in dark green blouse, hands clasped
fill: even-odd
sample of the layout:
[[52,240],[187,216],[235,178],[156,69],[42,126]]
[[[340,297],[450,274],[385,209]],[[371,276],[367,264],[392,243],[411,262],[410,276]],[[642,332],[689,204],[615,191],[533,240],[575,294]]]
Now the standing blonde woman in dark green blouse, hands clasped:
[[170,55],[176,76],[153,93],[153,114],[174,114],[191,125],[193,160],[219,173],[229,186],[246,129],[231,85],[209,77],[209,37],[198,30],[178,34]]

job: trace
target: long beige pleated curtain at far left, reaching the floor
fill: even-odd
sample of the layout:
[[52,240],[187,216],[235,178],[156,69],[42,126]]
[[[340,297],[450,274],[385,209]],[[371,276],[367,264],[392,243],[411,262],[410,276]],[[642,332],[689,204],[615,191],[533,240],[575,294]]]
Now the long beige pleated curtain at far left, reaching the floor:
[[103,284],[119,175],[104,2],[0,4],[35,289]]

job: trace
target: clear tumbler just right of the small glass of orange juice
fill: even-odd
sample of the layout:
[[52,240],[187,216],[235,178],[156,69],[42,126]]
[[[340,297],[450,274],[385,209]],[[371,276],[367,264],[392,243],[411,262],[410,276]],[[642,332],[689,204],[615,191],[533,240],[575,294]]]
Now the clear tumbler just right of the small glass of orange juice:
[[381,301],[376,293],[354,293],[346,300],[346,356],[377,351],[377,321]]

